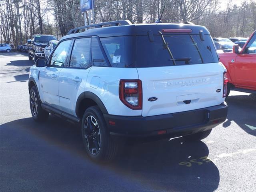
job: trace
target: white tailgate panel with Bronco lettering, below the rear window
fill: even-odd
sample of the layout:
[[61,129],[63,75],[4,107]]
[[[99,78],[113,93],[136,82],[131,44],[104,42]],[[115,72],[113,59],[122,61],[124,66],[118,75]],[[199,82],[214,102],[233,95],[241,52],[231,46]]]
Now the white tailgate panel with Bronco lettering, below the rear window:
[[[206,108],[224,101],[222,97],[224,69],[221,63],[137,68],[137,70],[142,81],[142,116]],[[149,101],[152,97],[157,100]]]

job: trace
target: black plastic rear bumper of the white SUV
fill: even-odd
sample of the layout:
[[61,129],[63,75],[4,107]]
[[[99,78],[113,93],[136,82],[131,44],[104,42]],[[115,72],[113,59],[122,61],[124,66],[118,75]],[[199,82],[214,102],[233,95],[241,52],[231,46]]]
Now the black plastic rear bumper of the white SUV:
[[[156,116],[115,116],[104,114],[110,134],[126,136],[184,136],[214,128],[226,120],[226,102],[208,108]],[[115,122],[110,125],[109,121]]]

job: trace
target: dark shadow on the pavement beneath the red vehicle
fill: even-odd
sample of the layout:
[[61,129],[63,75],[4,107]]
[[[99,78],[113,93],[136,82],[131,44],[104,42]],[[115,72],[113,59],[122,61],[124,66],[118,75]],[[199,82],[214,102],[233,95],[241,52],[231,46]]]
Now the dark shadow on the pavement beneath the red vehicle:
[[256,136],[256,118],[248,114],[256,114],[256,95],[235,95],[226,98],[228,103],[227,121],[223,127],[228,127],[234,121],[248,134]]

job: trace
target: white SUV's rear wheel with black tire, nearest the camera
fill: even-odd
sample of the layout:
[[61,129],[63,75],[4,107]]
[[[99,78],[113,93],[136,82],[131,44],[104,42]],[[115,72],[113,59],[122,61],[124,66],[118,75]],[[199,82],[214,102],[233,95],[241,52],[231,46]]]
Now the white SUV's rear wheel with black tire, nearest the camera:
[[106,162],[115,158],[120,145],[110,136],[98,106],[89,107],[84,112],[81,130],[86,153],[92,160]]

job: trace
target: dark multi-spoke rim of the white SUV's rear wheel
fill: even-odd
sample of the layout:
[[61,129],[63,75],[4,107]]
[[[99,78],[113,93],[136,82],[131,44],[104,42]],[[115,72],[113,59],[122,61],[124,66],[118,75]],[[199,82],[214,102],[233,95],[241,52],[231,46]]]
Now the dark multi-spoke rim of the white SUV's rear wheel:
[[89,152],[97,155],[101,144],[100,128],[97,120],[91,115],[84,122],[84,139]]

